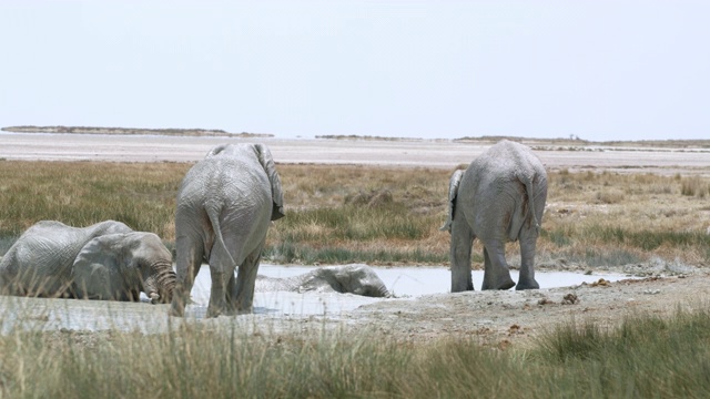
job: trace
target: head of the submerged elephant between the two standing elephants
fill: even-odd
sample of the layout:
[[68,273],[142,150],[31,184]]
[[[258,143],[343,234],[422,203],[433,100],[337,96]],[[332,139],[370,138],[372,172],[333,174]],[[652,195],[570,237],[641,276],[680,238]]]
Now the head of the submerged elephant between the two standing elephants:
[[390,297],[385,283],[366,265],[317,268],[303,278],[301,290],[320,290],[331,287],[343,294],[369,297]]

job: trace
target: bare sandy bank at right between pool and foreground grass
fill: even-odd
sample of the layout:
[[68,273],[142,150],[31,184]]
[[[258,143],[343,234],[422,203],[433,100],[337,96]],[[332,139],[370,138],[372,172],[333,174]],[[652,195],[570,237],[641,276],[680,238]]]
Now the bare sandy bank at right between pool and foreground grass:
[[[529,291],[469,291],[420,297],[413,301],[382,301],[363,306],[348,319],[351,328],[375,326],[384,336],[427,340],[473,336],[506,348],[526,346],[555,326],[596,321],[617,326],[639,315],[667,316],[679,308],[707,307],[710,276],[648,277],[617,283]],[[368,326],[368,327],[366,327]]]

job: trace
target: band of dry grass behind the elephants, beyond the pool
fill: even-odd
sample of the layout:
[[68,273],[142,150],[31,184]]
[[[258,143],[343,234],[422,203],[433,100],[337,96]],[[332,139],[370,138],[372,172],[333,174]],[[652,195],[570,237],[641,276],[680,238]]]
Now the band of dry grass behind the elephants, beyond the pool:
[[[0,161],[0,254],[29,226],[122,221],[174,241],[175,193],[191,164]],[[270,231],[273,263],[447,264],[448,177],[439,168],[277,165],[287,217]],[[538,263],[582,267],[652,257],[710,264],[710,180],[698,175],[549,172]],[[507,246],[511,265],[517,245]],[[474,267],[483,256],[477,245]]]

